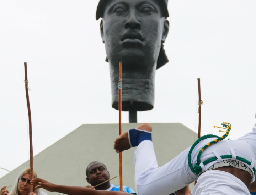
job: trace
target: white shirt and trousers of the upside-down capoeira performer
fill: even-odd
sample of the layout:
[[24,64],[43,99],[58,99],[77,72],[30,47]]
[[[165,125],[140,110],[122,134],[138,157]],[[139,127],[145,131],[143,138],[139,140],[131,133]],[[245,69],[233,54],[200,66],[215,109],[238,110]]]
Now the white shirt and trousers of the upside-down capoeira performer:
[[[194,148],[191,155],[193,166],[199,150],[212,140],[214,138],[204,139]],[[225,171],[208,169],[214,169],[213,167],[218,164],[220,166],[232,165],[250,172],[251,182],[253,182],[255,180],[253,168],[256,166],[256,124],[253,132],[237,140],[222,140],[204,150],[201,155],[200,177],[188,166],[189,150],[190,148],[186,149],[164,166],[158,167],[153,142],[142,141],[134,152],[133,162],[137,194],[169,195],[197,180],[192,195],[250,195],[246,185],[237,177]],[[223,160],[220,157],[222,155],[232,155],[232,158]],[[250,161],[251,165],[238,160],[236,156]],[[217,160],[203,165],[203,161],[212,157],[217,157]]]

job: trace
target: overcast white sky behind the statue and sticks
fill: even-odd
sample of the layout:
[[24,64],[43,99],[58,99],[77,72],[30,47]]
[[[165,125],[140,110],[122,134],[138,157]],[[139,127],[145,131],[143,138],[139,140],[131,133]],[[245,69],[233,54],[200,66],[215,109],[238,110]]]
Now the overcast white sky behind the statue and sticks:
[[[0,1],[0,167],[11,171],[29,159],[23,62],[34,155],[81,124],[118,123],[97,4]],[[154,109],[139,112],[138,122],[180,122],[197,130],[201,78],[202,135],[222,135],[213,126],[223,121],[232,124],[230,139],[250,132],[256,123],[255,10],[255,0],[171,0],[169,63],[156,71]],[[127,112],[122,121],[128,122]],[[0,169],[0,177],[6,173]]]

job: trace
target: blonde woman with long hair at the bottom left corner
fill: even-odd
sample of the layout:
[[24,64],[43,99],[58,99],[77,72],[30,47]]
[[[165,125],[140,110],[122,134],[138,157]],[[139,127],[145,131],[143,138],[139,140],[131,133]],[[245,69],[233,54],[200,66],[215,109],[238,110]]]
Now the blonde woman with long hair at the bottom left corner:
[[[37,178],[37,172],[34,171],[34,178]],[[23,170],[15,181],[11,192],[6,189],[7,186],[1,188],[0,195],[47,195],[43,191],[34,188],[34,192],[30,193],[30,168]]]

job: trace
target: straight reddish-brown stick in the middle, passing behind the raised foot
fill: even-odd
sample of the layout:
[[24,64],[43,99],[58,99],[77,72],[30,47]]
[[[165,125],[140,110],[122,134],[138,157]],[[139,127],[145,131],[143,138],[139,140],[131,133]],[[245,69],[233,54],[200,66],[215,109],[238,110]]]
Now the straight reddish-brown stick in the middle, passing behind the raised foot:
[[[119,83],[118,83],[118,111],[119,111],[119,135],[122,133],[122,62],[119,62]],[[123,167],[122,167],[122,152],[119,153],[119,178],[120,191],[123,191]]]

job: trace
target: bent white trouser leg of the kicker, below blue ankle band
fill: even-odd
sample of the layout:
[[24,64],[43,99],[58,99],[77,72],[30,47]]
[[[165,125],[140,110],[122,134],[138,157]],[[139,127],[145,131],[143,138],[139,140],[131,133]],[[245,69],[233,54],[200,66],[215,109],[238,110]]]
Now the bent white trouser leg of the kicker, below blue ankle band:
[[135,188],[138,195],[169,195],[194,181],[187,163],[188,150],[158,168],[153,142],[142,141],[134,152]]

